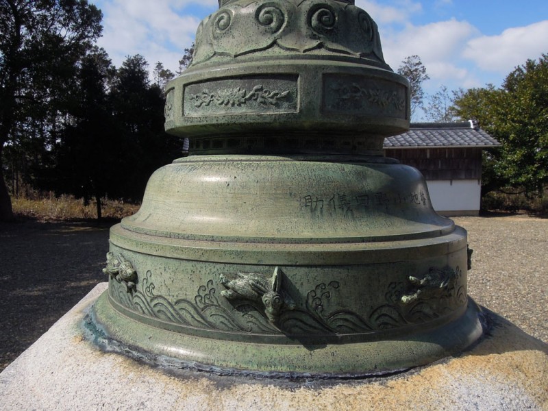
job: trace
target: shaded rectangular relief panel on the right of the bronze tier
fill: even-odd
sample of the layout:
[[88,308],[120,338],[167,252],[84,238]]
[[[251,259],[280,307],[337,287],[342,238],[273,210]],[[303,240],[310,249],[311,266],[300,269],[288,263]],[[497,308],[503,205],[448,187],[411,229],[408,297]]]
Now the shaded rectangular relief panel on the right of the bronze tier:
[[323,112],[407,118],[407,88],[385,79],[359,75],[323,77]]

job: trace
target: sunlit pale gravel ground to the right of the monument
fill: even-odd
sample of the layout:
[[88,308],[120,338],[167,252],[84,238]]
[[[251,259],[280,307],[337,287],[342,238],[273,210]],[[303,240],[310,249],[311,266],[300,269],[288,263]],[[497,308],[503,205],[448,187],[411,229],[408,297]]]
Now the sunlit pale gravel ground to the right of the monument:
[[468,230],[468,293],[548,343],[548,219],[526,215],[455,217]]

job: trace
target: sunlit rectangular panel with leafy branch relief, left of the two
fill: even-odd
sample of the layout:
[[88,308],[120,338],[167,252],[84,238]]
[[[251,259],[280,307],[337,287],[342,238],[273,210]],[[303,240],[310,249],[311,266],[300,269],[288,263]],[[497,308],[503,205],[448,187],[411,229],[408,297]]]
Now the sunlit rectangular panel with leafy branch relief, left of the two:
[[297,112],[297,75],[227,77],[188,84],[184,116]]

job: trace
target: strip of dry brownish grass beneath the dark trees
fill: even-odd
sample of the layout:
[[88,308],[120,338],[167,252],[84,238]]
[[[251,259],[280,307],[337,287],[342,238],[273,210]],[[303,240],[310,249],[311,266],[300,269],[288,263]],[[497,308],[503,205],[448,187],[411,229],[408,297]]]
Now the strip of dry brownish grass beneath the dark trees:
[[[101,199],[101,204],[105,219],[122,219],[139,209],[138,204],[108,198]],[[16,216],[31,217],[38,221],[97,219],[95,200],[86,205],[84,199],[75,199],[72,195],[55,197],[53,192],[12,197],[12,207]]]

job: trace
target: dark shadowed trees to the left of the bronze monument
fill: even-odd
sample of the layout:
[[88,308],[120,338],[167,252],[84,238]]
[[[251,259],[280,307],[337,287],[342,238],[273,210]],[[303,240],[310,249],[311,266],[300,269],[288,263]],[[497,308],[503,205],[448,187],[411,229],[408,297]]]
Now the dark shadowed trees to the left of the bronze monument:
[[[174,76],[141,55],[116,68],[96,45],[102,13],[86,0],[0,1],[0,221],[21,186],[140,201],[151,173],[181,154],[164,132]],[[190,62],[188,53],[182,67]]]

